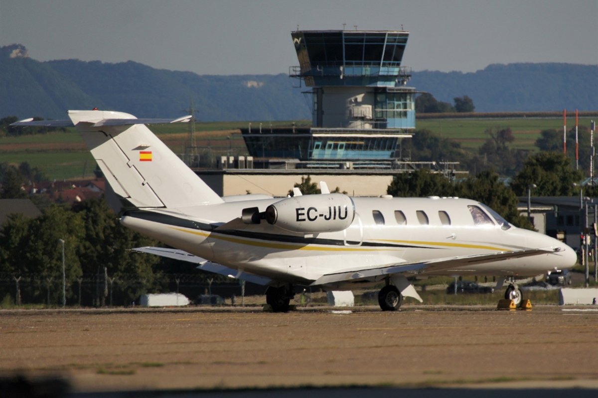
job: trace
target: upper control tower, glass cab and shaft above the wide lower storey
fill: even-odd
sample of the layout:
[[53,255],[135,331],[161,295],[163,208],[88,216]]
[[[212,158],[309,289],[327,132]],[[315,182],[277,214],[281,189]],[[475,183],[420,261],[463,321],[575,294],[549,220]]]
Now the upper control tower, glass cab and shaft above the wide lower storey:
[[292,32],[299,66],[291,76],[312,87],[313,127],[415,128],[414,89],[401,65],[404,30]]

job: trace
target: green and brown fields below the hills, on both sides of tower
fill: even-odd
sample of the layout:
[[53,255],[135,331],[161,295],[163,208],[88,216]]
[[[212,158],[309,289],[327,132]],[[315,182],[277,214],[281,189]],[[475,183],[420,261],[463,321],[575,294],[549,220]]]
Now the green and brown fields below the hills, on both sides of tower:
[[[568,128],[572,121],[568,121]],[[273,127],[288,125],[288,122],[273,123]],[[515,118],[515,119],[426,119],[418,120],[417,128],[428,128],[441,137],[459,142],[463,148],[476,151],[489,136],[487,128],[511,127],[515,136],[515,148],[535,150],[534,143],[540,131],[552,128],[562,131],[560,118]],[[580,118],[579,125],[588,126],[590,118]],[[215,159],[219,155],[246,155],[245,142],[239,128],[248,122],[196,123],[196,152],[203,157]],[[260,122],[252,122],[252,128],[259,128]],[[302,121],[302,126],[309,121]],[[264,129],[270,122],[263,122]],[[152,126],[160,139],[181,156],[185,154],[188,142],[188,125],[166,124]],[[0,162],[19,164],[27,161],[31,166],[44,170],[53,180],[74,179],[93,176],[95,162],[87,151],[83,140],[70,129],[63,133],[39,134],[21,137],[0,137]]]

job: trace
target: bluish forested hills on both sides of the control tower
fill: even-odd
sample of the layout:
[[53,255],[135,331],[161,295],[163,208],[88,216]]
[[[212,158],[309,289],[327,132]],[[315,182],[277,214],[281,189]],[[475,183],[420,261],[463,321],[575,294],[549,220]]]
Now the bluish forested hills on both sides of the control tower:
[[[0,49],[2,50],[2,49]],[[200,62],[200,61],[198,61]],[[137,117],[178,117],[193,100],[202,121],[310,119],[297,79],[279,75],[197,75],[136,62],[38,62],[0,51],[0,118],[65,118],[67,109],[109,109]],[[598,66],[490,65],[483,71],[414,72],[409,82],[449,103],[467,95],[475,111],[598,109]]]

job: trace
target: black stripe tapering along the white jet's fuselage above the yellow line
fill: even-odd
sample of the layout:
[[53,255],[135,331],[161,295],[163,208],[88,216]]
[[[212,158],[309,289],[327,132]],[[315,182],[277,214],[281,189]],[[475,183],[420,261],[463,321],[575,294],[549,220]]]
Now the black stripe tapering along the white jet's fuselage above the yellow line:
[[[218,225],[206,224],[185,218],[166,215],[163,213],[154,213],[147,210],[130,210],[125,212],[123,216],[138,218],[145,221],[157,222],[159,224],[179,226],[181,228],[196,229],[204,232],[215,232],[222,235],[229,235],[240,238],[252,238],[266,241],[275,241],[279,243],[298,243],[298,244],[320,244],[327,246],[346,246],[343,240],[338,239],[323,239],[323,238],[304,238],[298,235],[281,235],[281,234],[267,234],[265,232],[240,231],[238,229],[218,229]],[[349,244],[359,244],[358,241],[348,241]],[[441,249],[441,247],[419,246],[413,244],[389,244],[379,242],[362,242],[362,247],[403,247],[416,249]]]

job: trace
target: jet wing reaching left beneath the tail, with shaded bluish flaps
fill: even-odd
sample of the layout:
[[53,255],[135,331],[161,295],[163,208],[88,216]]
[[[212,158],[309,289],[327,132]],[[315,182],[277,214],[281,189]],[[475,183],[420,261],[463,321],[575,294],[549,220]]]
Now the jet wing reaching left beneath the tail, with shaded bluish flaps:
[[215,262],[208,261],[204,258],[192,255],[191,253],[187,253],[184,250],[178,249],[166,249],[164,247],[136,247],[136,252],[142,253],[149,253],[152,255],[172,258],[175,260],[182,260],[187,262],[193,262],[194,264],[198,264],[197,269],[202,271],[208,271],[210,273],[215,273],[219,275],[224,275],[227,277],[233,277],[240,280],[245,280],[251,283],[261,284],[262,286],[266,286],[271,282],[270,278],[261,277],[254,274],[249,274],[243,271],[234,270],[233,268],[224,267],[224,265],[216,264]]

